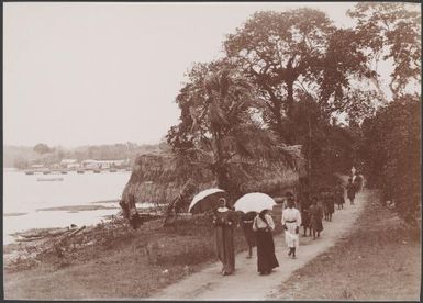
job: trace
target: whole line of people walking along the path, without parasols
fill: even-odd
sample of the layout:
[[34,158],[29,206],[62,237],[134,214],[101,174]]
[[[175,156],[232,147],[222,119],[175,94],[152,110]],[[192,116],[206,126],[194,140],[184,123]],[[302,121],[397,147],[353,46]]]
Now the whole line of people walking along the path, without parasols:
[[[358,191],[363,188],[363,177],[357,175],[348,179],[346,186],[347,198],[354,205],[354,199]],[[323,231],[323,218],[327,222],[332,221],[332,214],[335,212],[335,204],[338,210],[344,207],[344,187],[339,181],[336,187],[322,188],[319,195],[302,197],[300,210],[296,207],[296,200],[292,192],[286,193],[286,205],[282,211],[281,224],[285,229],[285,240],[289,248],[288,256],[296,258],[297,248],[299,247],[300,226],[310,229],[310,236],[313,239],[320,237]],[[257,247],[257,271],[260,274],[269,274],[271,270],[279,267],[279,262],[275,254],[275,243],[272,232],[275,231],[275,222],[270,215],[270,210],[263,210],[259,213],[248,212],[238,217],[226,204],[226,200],[221,198],[219,206],[214,211],[213,224],[215,226],[218,257],[222,262],[222,274],[232,274],[235,270],[235,249],[234,249],[234,227],[242,226],[245,239],[248,245],[247,258],[253,256],[253,247]]]

